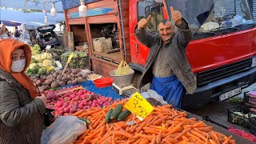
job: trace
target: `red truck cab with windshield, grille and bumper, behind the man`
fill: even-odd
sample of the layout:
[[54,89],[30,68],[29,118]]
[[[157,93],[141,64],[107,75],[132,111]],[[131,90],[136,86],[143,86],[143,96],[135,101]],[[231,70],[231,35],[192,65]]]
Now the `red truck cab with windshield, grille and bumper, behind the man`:
[[[134,28],[152,18],[146,28],[158,32],[170,6],[179,10],[194,33],[186,56],[197,78],[197,90],[182,98],[183,108],[198,108],[213,99],[234,97],[256,82],[256,2],[251,0],[130,0],[130,67],[142,72],[150,49],[138,42]],[[254,8],[254,9],[253,9]]]

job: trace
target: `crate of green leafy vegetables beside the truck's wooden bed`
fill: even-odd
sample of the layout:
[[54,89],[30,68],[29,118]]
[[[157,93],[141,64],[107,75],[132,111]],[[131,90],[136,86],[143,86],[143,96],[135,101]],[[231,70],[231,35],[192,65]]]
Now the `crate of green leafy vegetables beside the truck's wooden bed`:
[[[66,65],[66,61],[69,58],[70,54],[71,52],[66,52],[61,55],[62,66]],[[89,62],[89,57],[85,52],[75,51],[73,58],[71,59],[68,67],[72,69],[78,69],[78,68],[86,69],[89,65],[88,62]]]

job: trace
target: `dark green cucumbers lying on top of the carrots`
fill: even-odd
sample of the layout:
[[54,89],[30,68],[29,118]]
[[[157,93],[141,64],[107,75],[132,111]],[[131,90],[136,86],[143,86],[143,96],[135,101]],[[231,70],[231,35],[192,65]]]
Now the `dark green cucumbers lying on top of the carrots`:
[[116,119],[118,122],[125,121],[131,113],[129,110],[122,110],[122,108],[123,106],[121,104],[118,104],[114,110],[110,108],[110,110],[106,113],[105,122],[110,123],[110,121],[114,119]]

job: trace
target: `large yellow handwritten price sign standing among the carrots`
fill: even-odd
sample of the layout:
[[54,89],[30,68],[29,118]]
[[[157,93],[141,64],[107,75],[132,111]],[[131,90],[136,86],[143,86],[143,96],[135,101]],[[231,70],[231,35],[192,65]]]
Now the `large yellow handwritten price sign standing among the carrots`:
[[138,92],[136,92],[130,100],[126,102],[125,107],[127,110],[130,110],[130,112],[136,114],[137,118],[141,121],[146,118],[152,110],[154,110],[154,107],[151,106],[150,103],[147,102],[146,99]]

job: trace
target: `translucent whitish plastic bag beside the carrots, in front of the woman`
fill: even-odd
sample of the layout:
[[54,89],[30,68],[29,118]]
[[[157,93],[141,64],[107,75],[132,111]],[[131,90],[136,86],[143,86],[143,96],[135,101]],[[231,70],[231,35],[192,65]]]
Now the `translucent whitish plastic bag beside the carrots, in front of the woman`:
[[75,116],[61,116],[46,130],[42,130],[42,144],[69,144],[87,130],[86,122]]

